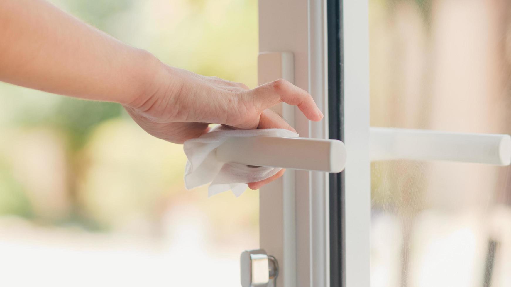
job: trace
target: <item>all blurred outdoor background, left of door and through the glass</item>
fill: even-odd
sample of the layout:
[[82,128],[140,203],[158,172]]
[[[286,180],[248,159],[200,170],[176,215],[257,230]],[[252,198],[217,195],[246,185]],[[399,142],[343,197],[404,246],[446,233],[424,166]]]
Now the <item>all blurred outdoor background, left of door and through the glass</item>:
[[[167,64],[257,83],[255,0],[52,0]],[[371,125],[511,134],[511,4],[369,0]],[[0,83],[0,285],[238,286],[259,194],[183,187],[119,105]],[[371,165],[371,285],[511,286],[508,167]]]

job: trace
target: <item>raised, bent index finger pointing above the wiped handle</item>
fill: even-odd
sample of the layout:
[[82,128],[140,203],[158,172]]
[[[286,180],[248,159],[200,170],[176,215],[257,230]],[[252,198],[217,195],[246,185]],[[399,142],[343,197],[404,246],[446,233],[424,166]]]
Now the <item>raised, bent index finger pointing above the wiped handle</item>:
[[279,102],[286,102],[289,105],[297,106],[309,120],[319,121],[323,118],[323,114],[316,106],[312,96],[286,80],[280,79],[261,85],[253,89],[251,93],[250,100],[260,111],[273,107]]

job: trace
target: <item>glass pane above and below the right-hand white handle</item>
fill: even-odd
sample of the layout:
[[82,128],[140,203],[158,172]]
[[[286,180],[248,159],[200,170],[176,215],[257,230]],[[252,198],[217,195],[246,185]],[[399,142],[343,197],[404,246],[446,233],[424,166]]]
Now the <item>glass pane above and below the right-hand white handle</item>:
[[[371,125],[511,133],[511,2],[370,0]],[[511,286],[511,173],[371,164],[371,285]]]

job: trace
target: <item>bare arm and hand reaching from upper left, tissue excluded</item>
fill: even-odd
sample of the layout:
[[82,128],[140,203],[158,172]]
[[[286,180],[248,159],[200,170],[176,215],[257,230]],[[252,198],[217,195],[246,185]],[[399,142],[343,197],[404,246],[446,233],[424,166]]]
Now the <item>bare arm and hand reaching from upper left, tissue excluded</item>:
[[[45,2],[0,1],[0,81],[83,99],[118,102],[147,133],[173,143],[207,133],[208,124],[294,129],[269,108],[323,114],[311,95],[284,80],[254,89],[171,67]],[[284,170],[259,182],[258,189]]]

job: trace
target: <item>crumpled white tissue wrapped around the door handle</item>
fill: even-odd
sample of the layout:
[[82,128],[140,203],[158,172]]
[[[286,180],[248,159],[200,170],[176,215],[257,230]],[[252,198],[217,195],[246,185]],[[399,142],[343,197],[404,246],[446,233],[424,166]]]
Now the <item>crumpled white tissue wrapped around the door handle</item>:
[[[208,196],[232,190],[238,197],[247,188],[246,182],[266,179],[280,168],[249,167],[238,163],[223,163],[216,158],[216,149],[230,137],[298,137],[298,134],[282,128],[231,129],[226,126],[214,127],[199,138],[184,142],[184,153],[188,162],[184,172],[184,185],[193,189],[211,182]],[[247,150],[250,152],[250,150]]]

